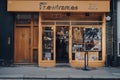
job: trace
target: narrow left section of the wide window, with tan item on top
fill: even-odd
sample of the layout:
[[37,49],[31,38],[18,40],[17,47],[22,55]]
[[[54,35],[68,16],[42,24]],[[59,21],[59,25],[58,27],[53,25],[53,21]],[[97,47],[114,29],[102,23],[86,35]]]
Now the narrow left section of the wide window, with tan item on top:
[[72,59],[73,60],[82,60],[83,57],[80,56],[80,53],[84,51],[84,28],[74,27],[72,28]]

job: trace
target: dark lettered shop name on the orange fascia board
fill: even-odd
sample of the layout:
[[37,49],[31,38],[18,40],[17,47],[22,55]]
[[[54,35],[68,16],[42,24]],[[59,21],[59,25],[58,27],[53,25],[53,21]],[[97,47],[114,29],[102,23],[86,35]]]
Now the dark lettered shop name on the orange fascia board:
[[47,2],[40,2],[40,10],[78,10],[78,6],[47,5]]

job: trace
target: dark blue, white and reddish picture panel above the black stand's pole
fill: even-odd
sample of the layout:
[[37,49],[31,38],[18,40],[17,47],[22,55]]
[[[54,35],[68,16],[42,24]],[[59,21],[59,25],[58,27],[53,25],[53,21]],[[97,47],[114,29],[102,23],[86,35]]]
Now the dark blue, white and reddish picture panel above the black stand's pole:
[[85,28],[84,42],[86,51],[101,51],[101,29]]

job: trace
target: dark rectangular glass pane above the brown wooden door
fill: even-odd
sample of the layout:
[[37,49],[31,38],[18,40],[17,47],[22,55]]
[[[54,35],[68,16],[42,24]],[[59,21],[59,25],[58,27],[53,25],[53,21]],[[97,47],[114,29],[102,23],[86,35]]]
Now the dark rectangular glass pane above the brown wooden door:
[[30,13],[17,13],[16,24],[30,24],[31,14]]

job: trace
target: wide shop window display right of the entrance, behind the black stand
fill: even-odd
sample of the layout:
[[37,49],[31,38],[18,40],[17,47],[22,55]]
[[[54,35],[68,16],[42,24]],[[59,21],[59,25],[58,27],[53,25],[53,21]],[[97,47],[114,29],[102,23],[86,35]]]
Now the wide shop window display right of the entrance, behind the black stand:
[[89,60],[98,60],[101,57],[101,28],[73,27],[72,35],[73,60],[84,60],[86,51],[90,53]]

